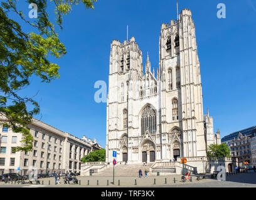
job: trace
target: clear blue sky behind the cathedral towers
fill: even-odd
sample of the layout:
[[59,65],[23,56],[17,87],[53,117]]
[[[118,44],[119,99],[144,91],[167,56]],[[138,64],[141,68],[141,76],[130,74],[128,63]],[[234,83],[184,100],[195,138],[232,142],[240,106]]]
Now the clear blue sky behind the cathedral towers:
[[[226,19],[216,17],[220,2],[227,6]],[[29,11],[24,1],[19,4]],[[183,8],[191,9],[195,21],[203,108],[205,113],[210,109],[215,132],[219,128],[222,138],[255,126],[256,1],[179,1],[179,12]],[[171,19],[176,19],[175,0],[99,0],[94,11],[82,4],[74,6],[59,31],[67,47],[67,54],[56,61],[60,78],[50,84],[33,78],[24,91],[28,95],[39,91],[36,100],[41,114],[36,117],[79,138],[96,138],[105,147],[106,104],[95,103],[93,86],[98,80],[108,84],[112,39],[124,41],[128,24],[129,37],[139,44],[143,63],[149,51],[156,68],[161,24]]]

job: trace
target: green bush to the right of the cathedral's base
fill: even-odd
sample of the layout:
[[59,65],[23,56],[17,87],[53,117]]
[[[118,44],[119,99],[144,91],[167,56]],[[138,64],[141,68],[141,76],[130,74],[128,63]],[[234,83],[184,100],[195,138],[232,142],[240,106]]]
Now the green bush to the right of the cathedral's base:
[[221,143],[218,144],[210,144],[207,148],[207,156],[208,157],[226,157],[230,156],[230,149],[227,144]]

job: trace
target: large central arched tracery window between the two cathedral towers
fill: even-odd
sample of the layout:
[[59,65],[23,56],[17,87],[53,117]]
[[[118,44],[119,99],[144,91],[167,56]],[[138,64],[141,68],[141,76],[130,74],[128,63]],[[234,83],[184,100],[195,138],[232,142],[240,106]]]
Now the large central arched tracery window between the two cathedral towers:
[[150,134],[156,133],[156,111],[147,106],[141,115],[141,134],[149,131]]

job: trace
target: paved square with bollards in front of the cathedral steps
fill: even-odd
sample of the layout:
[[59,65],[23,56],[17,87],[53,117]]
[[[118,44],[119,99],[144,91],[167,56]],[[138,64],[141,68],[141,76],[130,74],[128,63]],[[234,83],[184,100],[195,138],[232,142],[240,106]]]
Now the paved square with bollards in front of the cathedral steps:
[[[174,183],[174,178],[176,179],[176,183]],[[114,185],[112,184],[112,177],[78,176],[77,179],[80,180],[80,184],[63,184],[63,182],[61,182],[61,184],[55,185],[54,178],[44,178],[40,179],[41,184],[39,185],[18,183],[5,184],[2,182],[0,183],[0,187],[256,187],[256,173],[230,175],[227,176],[226,181],[218,181],[216,179],[196,181],[196,177],[193,177],[192,182],[187,181],[186,183],[181,182],[181,175],[152,176],[148,178],[115,177]],[[154,184],[154,179],[156,179],[156,184]],[[107,180],[109,180],[108,186]],[[97,183],[99,183],[99,185]]]

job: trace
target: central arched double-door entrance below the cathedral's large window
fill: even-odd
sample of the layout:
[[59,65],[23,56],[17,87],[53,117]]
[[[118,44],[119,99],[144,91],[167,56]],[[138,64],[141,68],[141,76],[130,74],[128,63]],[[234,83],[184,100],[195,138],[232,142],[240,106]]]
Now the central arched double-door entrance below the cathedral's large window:
[[154,143],[150,140],[144,141],[141,147],[142,163],[153,163],[156,160],[156,149]]

